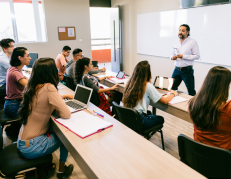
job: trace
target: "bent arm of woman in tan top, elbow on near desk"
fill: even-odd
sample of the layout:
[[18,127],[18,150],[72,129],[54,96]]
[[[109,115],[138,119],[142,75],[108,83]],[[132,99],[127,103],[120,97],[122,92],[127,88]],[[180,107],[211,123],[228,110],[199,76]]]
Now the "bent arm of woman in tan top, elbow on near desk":
[[69,119],[71,112],[62,100],[58,90],[52,84],[49,84],[47,88],[49,90],[48,102],[55,107],[55,113],[61,118]]

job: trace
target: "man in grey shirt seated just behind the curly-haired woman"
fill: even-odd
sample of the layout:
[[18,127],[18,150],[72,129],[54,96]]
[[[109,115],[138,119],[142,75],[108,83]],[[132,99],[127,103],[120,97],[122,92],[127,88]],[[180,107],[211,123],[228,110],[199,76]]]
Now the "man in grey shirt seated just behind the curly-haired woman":
[[[82,50],[79,48],[73,50],[72,54],[73,54],[73,59],[68,62],[66,66],[67,67],[66,73],[64,74],[64,76],[66,78],[67,87],[75,91],[76,85],[74,84],[74,80],[73,80],[73,69],[75,66],[75,62],[78,59],[82,59],[83,54],[82,54]],[[102,68],[102,69],[94,68],[94,70],[89,71],[89,75],[99,73],[99,72],[105,72],[105,71],[106,71],[105,68]]]

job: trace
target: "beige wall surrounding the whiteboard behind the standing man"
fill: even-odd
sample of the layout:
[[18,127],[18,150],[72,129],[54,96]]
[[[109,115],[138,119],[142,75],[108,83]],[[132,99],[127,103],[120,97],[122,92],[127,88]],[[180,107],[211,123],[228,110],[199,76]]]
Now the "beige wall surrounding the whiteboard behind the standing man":
[[[112,0],[112,7],[117,5],[120,5],[122,10],[124,70],[128,74],[131,74],[137,62],[148,60],[151,64],[153,77],[156,75],[171,76],[174,63],[168,58],[139,55],[136,53],[136,22],[137,14],[179,9],[179,0]],[[215,65],[195,62],[194,76],[196,91],[199,90],[209,69],[213,66]],[[187,91],[184,83],[181,83],[179,90]]]

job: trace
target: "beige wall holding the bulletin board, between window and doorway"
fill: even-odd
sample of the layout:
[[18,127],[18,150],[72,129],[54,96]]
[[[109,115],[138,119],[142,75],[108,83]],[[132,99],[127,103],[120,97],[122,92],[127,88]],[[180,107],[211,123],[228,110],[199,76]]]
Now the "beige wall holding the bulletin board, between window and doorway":
[[[92,58],[89,0],[43,0],[47,27],[47,42],[16,44],[23,46],[29,52],[37,52],[39,57],[56,58],[62,48],[68,45],[81,48],[83,54]],[[76,40],[60,41],[58,39],[59,26],[74,26]],[[80,42],[79,39],[83,41]],[[72,55],[68,57],[71,59]]]

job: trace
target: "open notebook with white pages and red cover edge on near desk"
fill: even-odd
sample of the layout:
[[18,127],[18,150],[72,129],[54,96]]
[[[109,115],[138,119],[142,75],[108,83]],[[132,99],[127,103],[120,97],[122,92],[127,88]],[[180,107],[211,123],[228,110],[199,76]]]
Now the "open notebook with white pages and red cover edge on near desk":
[[111,123],[85,111],[79,111],[71,114],[70,119],[58,118],[55,119],[55,121],[82,139],[113,126]]

